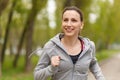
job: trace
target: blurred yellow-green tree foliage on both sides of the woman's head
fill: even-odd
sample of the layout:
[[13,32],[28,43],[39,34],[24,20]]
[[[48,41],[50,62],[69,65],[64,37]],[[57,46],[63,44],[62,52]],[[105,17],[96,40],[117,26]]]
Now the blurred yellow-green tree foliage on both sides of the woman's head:
[[[34,1],[34,0],[33,0]],[[44,4],[45,2],[34,2],[35,5],[38,3]],[[82,9],[84,13],[85,26],[82,31],[82,35],[91,38],[95,41],[97,49],[106,48],[104,46],[109,46],[115,42],[120,42],[120,39],[116,34],[120,33],[119,25],[119,0],[115,0],[114,4],[111,5],[108,0],[106,1],[98,1],[98,0],[66,0],[71,1],[71,5],[76,5]],[[86,2],[87,1],[87,2]],[[12,44],[14,42],[18,42],[20,38],[21,31],[25,25],[25,21],[27,19],[27,14],[30,12],[32,8],[32,0],[28,0],[23,2],[22,0],[17,1],[17,5],[14,10],[14,16],[11,23],[11,32],[12,34]],[[51,29],[49,27],[48,13],[47,7],[41,7],[38,5],[35,11],[38,8],[41,8],[42,11],[39,12],[38,17],[41,19],[37,19],[35,22],[34,29],[34,46],[41,45],[43,46],[46,41],[48,41],[53,35],[61,32],[61,13],[65,4],[65,0],[55,0],[56,3],[56,27],[55,29]],[[4,29],[7,20],[7,13],[9,12],[11,1],[8,4],[8,7],[3,12],[1,16],[1,37],[4,37]],[[98,17],[95,23],[90,23],[89,15],[90,13],[96,14]],[[43,29],[44,28],[44,29]],[[12,33],[13,32],[13,33]],[[46,33],[47,32],[47,33]],[[114,33],[113,33],[114,32]],[[15,34],[14,34],[15,33]],[[43,36],[44,34],[45,36]],[[11,36],[10,36],[11,37]],[[100,38],[100,39],[99,39]],[[15,40],[15,41],[13,41]],[[10,43],[11,43],[10,42]]]

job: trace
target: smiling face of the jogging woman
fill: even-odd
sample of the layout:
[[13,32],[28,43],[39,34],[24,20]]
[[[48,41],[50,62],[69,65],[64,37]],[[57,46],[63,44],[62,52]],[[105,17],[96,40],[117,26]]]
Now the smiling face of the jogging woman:
[[75,10],[67,10],[62,17],[62,31],[65,36],[78,36],[83,27],[80,15]]

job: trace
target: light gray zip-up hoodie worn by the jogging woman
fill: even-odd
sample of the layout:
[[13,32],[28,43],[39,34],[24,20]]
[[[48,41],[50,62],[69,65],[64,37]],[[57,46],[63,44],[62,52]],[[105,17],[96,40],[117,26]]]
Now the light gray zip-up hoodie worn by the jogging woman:
[[[88,38],[79,37],[84,42],[84,49],[78,61],[73,64],[70,56],[63,47],[60,37],[57,34],[50,39],[44,46],[44,51],[34,70],[35,80],[87,80],[88,71],[94,74],[96,80],[105,80],[95,57],[95,45]],[[60,65],[51,65],[52,56],[60,56]]]

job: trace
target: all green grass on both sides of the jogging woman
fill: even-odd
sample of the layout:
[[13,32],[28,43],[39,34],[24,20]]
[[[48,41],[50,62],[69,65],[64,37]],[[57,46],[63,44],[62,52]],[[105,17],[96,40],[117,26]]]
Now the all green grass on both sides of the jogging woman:
[[[104,60],[106,58],[109,58],[115,53],[120,52],[120,50],[103,50],[100,52],[97,52],[96,57],[98,61]],[[33,68],[28,73],[24,72],[24,56],[21,56],[18,61],[18,67],[13,68],[12,62],[14,57],[13,56],[6,56],[5,62],[2,67],[2,77],[0,80],[34,80],[33,78],[33,70],[35,65],[38,62],[39,57],[38,56],[32,56],[32,65]]]

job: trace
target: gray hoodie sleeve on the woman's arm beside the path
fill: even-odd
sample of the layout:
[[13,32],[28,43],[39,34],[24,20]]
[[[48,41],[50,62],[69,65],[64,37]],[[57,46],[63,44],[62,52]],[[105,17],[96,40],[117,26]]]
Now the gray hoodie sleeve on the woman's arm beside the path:
[[90,64],[90,71],[93,73],[93,75],[95,76],[96,80],[105,80],[102,71],[100,69],[100,66],[98,65],[97,59],[95,57],[95,44],[94,42],[91,42],[91,48],[93,50],[93,58]]

